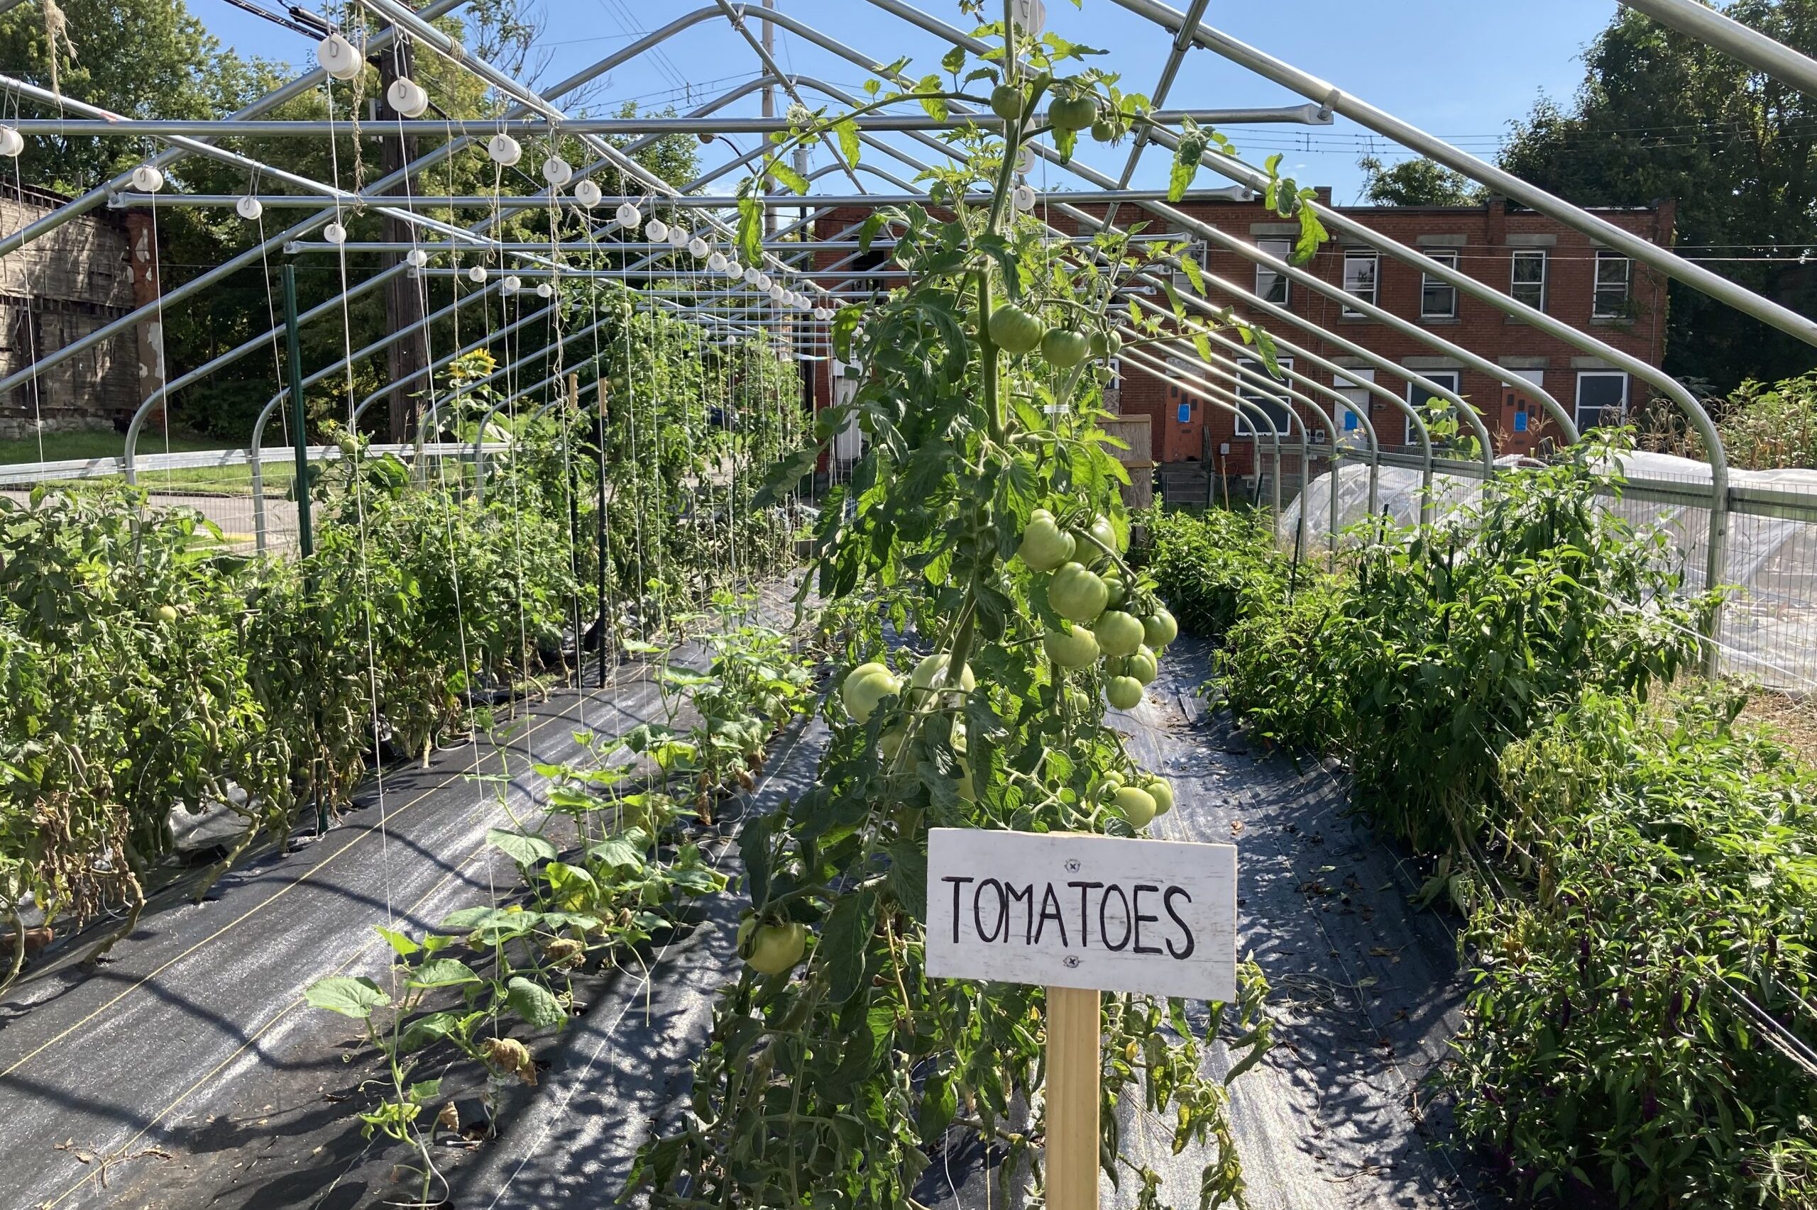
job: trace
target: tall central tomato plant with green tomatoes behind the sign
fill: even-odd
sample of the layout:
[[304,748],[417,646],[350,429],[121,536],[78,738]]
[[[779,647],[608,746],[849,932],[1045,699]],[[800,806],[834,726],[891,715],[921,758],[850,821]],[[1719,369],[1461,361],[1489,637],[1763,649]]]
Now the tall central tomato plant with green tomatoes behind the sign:
[[[839,694],[825,707],[834,734],[816,785],[745,825],[747,968],[716,1005],[690,1112],[638,1161],[656,1205],[914,1206],[948,1130],[1007,1148],[1005,1181],[1039,1154],[1041,1125],[1021,1106],[1039,1105],[1045,992],[928,979],[921,930],[930,827],[1128,836],[1161,810],[1094,705],[1116,683],[1092,632],[1110,601],[1094,567],[1123,585],[1128,621],[1107,620],[1105,632],[1125,658],[1148,618],[1156,634],[1168,623],[1152,581],[1123,556],[1127,478],[1096,425],[1108,371],[1072,358],[1112,325],[1114,291],[1148,254],[1097,238],[1074,256],[1007,205],[1018,145],[1038,133],[1030,114],[1050,91],[1085,114],[1074,129],[1101,107],[1141,107],[1101,73],[1057,78],[1077,55],[1054,38],[1019,40],[972,67],[968,80],[999,89],[998,113],[1019,114],[1005,138],[958,134],[961,167],[932,173],[941,205],[883,211],[865,227],[863,242],[892,231],[912,280],[832,325],[836,354],[861,380],[849,403],[819,414],[816,434],[856,422],[867,438],[812,541],[812,587],[836,603],[845,640]],[[968,60],[954,53],[943,67],[958,80]],[[872,96],[885,105],[903,94],[878,85]],[[948,98],[939,76],[907,96],[930,109]],[[772,156],[836,136],[839,122],[803,124]],[[756,207],[743,216],[754,238]],[[1036,356],[1054,329],[1087,334]],[[779,467],[770,498],[812,458]],[[887,634],[916,654],[892,654]],[[1141,683],[1123,679],[1139,698]],[[801,961],[781,963],[774,941],[758,952],[794,927]],[[785,936],[792,959],[794,932]],[[1105,1097],[1174,1116],[1176,1150],[1212,1148],[1205,1205],[1243,1186],[1225,1081],[1205,1076],[1203,1048],[1230,1027],[1241,1050],[1232,1077],[1254,1065],[1268,1046],[1263,994],[1246,965],[1239,1003],[1197,1021],[1181,1003],[1103,1001]],[[1157,1205],[1159,1181],[1119,1146],[1114,1108],[1105,1121],[1105,1165]]]

